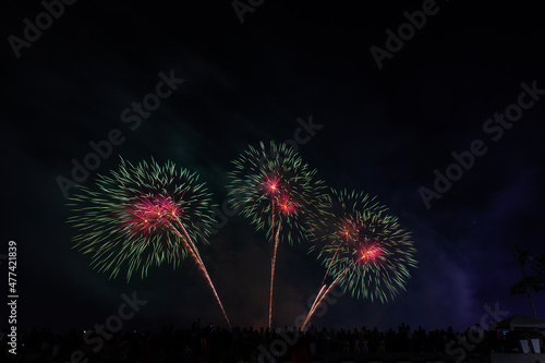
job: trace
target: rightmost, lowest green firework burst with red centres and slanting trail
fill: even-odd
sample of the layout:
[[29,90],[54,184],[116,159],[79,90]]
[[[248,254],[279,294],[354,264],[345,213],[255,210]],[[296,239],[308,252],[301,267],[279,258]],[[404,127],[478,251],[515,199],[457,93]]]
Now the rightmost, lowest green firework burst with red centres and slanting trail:
[[[324,244],[318,258],[327,269],[304,326],[335,285],[350,290],[352,297],[384,303],[405,290],[409,267],[416,265],[410,233],[400,228],[397,217],[387,215],[386,207],[363,193],[334,190],[332,194],[331,219],[315,225],[313,231],[316,242]],[[328,275],[335,277],[329,287],[325,285]]]

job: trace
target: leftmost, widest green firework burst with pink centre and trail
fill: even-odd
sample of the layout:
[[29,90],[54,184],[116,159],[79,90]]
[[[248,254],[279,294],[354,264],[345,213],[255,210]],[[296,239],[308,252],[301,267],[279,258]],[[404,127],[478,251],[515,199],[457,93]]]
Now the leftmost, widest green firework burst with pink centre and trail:
[[[74,249],[92,255],[90,266],[114,278],[126,267],[126,281],[141,269],[164,263],[175,268],[187,256],[199,267],[230,326],[223,305],[193,241],[206,241],[214,219],[210,194],[198,176],[153,159],[133,166],[121,159],[111,177],[99,176],[96,189],[80,186],[68,204],[80,231]],[[178,227],[178,228],[177,228]],[[181,231],[181,232],[180,232]]]

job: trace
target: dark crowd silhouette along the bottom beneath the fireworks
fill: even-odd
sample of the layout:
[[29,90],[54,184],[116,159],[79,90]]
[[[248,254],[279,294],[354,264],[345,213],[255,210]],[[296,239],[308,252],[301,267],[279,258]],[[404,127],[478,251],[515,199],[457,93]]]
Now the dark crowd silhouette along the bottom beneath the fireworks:
[[[56,334],[50,328],[20,332],[17,354],[9,353],[8,331],[2,332],[2,360],[48,363],[170,363],[170,362],[327,362],[334,356],[353,360],[373,356],[380,360],[391,353],[407,356],[436,354],[443,361],[464,356],[485,358],[489,352],[517,350],[518,336],[484,330],[479,326],[462,332],[447,329],[412,330],[376,327],[354,329],[294,328],[232,330],[194,322],[190,328],[173,325],[158,331],[119,331],[84,339],[85,331]],[[541,344],[543,346],[543,338]],[[438,359],[438,360],[439,360]],[[414,360],[412,360],[414,361]]]

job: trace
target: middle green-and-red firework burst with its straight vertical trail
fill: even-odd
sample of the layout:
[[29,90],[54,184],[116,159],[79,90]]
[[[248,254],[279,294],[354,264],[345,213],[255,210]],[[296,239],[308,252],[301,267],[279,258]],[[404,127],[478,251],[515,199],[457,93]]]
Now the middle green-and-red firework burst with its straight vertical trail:
[[269,327],[272,324],[272,287],[278,245],[306,238],[308,220],[318,220],[330,204],[316,170],[303,164],[299,154],[284,144],[262,142],[250,146],[233,161],[229,173],[229,196],[233,208],[250,218],[257,230],[266,230],[271,244]]

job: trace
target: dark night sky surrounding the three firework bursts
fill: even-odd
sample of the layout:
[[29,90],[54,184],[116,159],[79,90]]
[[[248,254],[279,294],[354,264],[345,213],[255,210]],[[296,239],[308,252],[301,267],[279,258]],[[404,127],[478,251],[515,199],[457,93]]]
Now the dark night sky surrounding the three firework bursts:
[[[332,187],[377,195],[419,250],[419,268],[396,301],[347,294],[317,326],[384,329],[404,322],[461,330],[495,303],[530,314],[509,286],[520,278],[517,242],[545,252],[545,99],[496,142],[483,124],[517,102],[521,83],[545,88],[545,4],[438,1],[437,13],[379,70],[370,48],[385,48],[385,31],[397,32],[407,22],[403,12],[423,3],[264,1],[241,24],[229,1],[180,8],[78,1],[19,59],[8,38],[22,37],[23,20],[35,23],[44,8],[2,3],[0,253],[8,241],[17,242],[20,327],[88,328],[133,291],[148,303],[128,328],[187,326],[197,317],[222,325],[189,263],[152,268],[130,283],[94,271],[87,256],[71,250],[75,231],[65,223],[56,179],[70,178],[71,160],[92,152],[89,142],[119,129],[125,142],[83,184],[117,168],[118,155],[133,162],[153,156],[199,172],[221,204],[230,160],[249,144],[292,138],[298,118],[311,114],[323,129],[300,146],[303,159]],[[185,82],[131,131],[122,111],[171,70]],[[427,209],[419,187],[433,187],[434,170],[445,171],[451,153],[468,150],[474,140],[487,153]],[[293,325],[318,288],[324,269],[307,247],[279,247],[276,325]],[[265,235],[231,217],[201,251],[232,323],[266,325]],[[0,269],[5,276],[7,264]],[[544,298],[534,300],[542,317]]]

